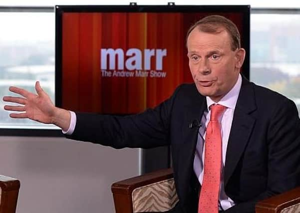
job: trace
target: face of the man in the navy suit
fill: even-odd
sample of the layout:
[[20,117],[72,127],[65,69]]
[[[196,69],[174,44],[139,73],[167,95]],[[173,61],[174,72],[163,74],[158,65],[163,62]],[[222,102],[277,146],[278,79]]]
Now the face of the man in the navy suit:
[[192,30],[187,40],[189,66],[200,94],[218,102],[235,85],[245,50],[232,50],[226,30],[217,34]]

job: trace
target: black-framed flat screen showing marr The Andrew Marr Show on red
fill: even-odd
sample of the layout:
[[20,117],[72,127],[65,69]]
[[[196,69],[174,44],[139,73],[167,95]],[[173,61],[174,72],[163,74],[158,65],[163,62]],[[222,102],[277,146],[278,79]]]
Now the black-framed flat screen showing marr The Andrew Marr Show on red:
[[219,14],[239,28],[247,51],[248,5],[56,6],[55,103],[81,112],[126,115],[154,107],[181,83],[193,82],[186,33]]

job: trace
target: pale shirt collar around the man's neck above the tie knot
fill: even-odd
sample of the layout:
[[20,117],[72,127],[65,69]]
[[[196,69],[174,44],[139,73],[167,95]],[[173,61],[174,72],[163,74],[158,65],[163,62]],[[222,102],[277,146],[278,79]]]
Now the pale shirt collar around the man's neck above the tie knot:
[[226,95],[224,95],[224,97],[221,98],[221,100],[218,103],[214,102],[210,97],[206,96],[208,111],[210,106],[213,104],[220,104],[226,106],[227,108],[235,109],[238,101],[239,93],[241,90],[241,86],[242,86],[242,76],[241,74],[239,74],[238,80],[234,85],[234,87]]

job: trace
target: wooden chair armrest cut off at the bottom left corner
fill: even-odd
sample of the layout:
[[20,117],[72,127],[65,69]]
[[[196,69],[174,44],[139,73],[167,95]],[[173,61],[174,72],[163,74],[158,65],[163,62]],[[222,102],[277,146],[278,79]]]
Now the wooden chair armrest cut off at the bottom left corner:
[[0,213],[15,213],[20,188],[17,179],[0,176]]

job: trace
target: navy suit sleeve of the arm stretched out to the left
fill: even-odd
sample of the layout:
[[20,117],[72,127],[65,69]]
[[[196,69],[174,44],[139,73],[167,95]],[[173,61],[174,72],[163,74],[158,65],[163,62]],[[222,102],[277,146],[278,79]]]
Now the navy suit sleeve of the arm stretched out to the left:
[[154,109],[129,116],[76,113],[76,126],[67,138],[116,149],[153,148],[169,144],[169,126],[176,93]]

